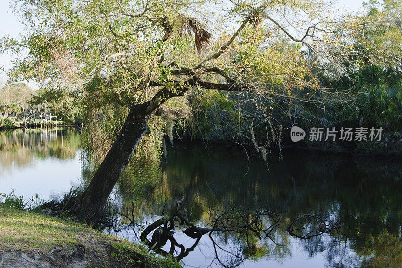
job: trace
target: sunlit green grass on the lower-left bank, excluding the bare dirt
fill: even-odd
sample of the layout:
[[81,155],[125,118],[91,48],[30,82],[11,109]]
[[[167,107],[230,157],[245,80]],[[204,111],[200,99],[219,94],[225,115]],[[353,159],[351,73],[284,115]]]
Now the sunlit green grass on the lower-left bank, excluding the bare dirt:
[[[170,258],[148,252],[142,244],[118,239],[87,227],[84,224],[62,220],[34,212],[0,207],[0,248],[50,249],[54,246],[73,248],[77,244],[85,248],[99,249],[110,258],[125,263],[147,261],[151,267],[181,267]],[[106,250],[107,245],[114,248]],[[145,258],[144,258],[145,257]],[[120,262],[120,261],[119,261]]]

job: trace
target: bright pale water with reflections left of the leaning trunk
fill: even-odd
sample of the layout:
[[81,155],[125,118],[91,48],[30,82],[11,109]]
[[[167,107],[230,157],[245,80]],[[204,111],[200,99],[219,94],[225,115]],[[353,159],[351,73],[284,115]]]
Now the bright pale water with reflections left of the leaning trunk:
[[80,135],[75,129],[29,129],[0,132],[0,193],[26,200],[58,197],[80,178]]

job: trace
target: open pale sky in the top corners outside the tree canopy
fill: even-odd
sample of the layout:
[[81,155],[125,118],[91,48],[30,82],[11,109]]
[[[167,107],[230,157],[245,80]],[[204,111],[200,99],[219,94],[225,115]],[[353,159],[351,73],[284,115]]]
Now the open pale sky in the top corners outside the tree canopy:
[[[338,0],[335,2],[335,6],[340,10],[359,12],[363,10],[362,2],[363,0]],[[18,18],[14,16],[10,9],[9,0],[0,0],[0,38],[8,35],[18,37],[22,31],[23,28],[18,22]],[[11,57],[0,54],[0,67],[6,70],[11,66]],[[4,83],[6,79],[5,72],[0,70],[0,84]]]

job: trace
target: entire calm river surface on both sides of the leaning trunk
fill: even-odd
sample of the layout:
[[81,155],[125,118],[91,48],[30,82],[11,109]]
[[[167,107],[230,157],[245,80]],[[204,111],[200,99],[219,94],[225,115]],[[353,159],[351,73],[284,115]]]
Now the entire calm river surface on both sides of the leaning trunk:
[[[79,186],[79,144],[74,129],[0,133],[0,193],[52,199]],[[117,189],[120,211],[138,224],[117,235],[138,241],[141,228],[176,204],[203,227],[212,227],[216,215],[232,216],[226,226],[249,223],[259,212],[263,229],[277,220],[261,238],[240,228],[196,241],[176,226],[173,237],[183,250],[176,247],[174,255],[187,267],[402,265],[400,161],[287,151],[283,160],[274,154],[265,163],[242,147],[176,144],[168,146],[155,180],[141,199]],[[297,218],[293,228],[306,228],[294,231],[300,236],[319,234],[317,219],[328,227],[310,239],[294,237],[286,229]],[[169,251],[169,241],[163,249]]]

